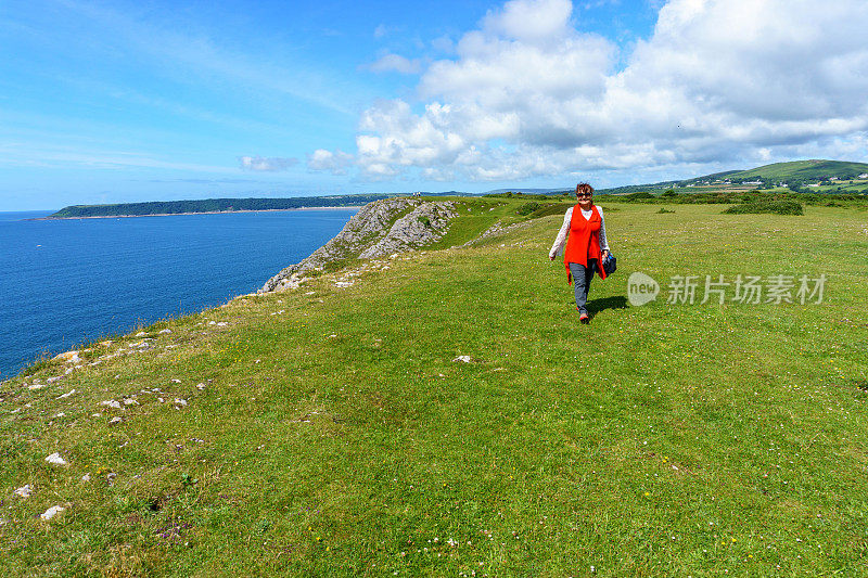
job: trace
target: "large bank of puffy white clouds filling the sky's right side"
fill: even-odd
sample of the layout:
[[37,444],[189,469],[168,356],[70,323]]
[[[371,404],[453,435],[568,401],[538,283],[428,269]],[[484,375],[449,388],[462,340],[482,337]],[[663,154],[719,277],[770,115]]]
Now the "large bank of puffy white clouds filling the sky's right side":
[[503,180],[864,154],[864,0],[672,0],[626,55],[572,17],[567,0],[489,12],[422,74],[419,105],[362,114],[362,174]]

